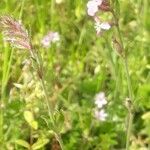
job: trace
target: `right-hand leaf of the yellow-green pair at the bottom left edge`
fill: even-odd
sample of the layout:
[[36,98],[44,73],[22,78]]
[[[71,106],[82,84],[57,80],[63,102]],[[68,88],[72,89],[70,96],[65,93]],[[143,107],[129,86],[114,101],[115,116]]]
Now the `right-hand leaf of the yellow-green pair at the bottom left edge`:
[[33,150],[40,149],[40,148],[42,148],[45,144],[47,144],[48,142],[49,142],[49,140],[46,139],[46,138],[38,139],[37,142],[32,145],[32,149],[33,149]]

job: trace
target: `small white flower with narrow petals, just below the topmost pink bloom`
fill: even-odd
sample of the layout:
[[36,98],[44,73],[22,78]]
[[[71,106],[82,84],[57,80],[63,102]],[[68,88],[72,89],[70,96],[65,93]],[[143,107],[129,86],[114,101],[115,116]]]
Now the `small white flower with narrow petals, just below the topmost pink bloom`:
[[108,22],[95,22],[95,29],[96,33],[99,34],[102,30],[109,30],[111,28],[111,25]]

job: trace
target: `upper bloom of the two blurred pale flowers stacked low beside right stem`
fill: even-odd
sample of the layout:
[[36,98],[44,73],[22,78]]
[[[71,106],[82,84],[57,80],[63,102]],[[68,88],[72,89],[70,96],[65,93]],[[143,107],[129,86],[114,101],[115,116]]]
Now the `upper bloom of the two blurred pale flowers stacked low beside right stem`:
[[104,92],[100,92],[100,93],[96,94],[95,104],[98,108],[102,108],[104,105],[107,104]]

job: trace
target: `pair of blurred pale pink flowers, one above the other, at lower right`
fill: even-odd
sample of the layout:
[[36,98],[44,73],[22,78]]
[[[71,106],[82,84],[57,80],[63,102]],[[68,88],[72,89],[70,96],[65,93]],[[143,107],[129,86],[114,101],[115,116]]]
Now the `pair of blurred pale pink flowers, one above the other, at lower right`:
[[107,100],[104,92],[100,92],[95,96],[95,105],[96,108],[94,110],[95,117],[100,121],[105,121],[108,114],[103,109],[103,106],[107,104]]

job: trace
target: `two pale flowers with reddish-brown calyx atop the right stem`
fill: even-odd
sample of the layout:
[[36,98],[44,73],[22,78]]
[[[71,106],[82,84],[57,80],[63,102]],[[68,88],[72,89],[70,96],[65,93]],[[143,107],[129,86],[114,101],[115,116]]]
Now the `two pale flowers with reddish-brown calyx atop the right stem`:
[[87,3],[87,13],[94,18],[95,29],[97,34],[100,34],[103,30],[109,30],[111,28],[110,23],[102,22],[96,13],[101,11],[110,11],[108,0],[90,0]]

